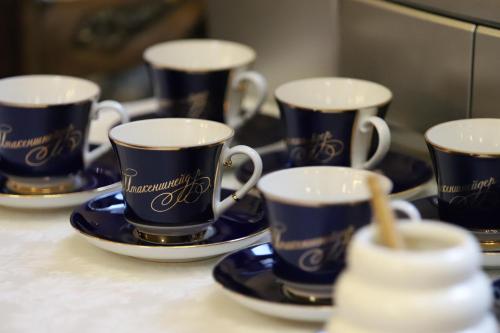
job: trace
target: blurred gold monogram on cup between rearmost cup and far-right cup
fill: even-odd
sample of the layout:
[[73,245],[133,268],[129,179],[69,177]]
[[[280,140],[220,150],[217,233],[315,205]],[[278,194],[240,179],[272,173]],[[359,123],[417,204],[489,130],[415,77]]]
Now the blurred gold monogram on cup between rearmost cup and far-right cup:
[[344,143],[335,139],[330,131],[313,133],[311,138],[289,138],[287,143],[292,146],[291,158],[297,162],[327,163],[344,151]]

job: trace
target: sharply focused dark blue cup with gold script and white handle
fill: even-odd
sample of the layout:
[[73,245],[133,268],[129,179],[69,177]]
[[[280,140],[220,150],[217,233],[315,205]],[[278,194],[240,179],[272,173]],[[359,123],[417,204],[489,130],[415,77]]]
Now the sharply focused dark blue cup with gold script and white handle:
[[[209,120],[158,118],[119,125],[109,132],[122,172],[126,219],[149,241],[194,241],[257,183],[259,154],[229,147],[234,130]],[[220,199],[224,166],[244,154],[252,177]]]

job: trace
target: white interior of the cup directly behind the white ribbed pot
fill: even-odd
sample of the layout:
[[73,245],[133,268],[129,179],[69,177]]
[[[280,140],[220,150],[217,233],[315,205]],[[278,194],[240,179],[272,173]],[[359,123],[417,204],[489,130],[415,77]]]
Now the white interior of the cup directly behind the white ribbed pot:
[[377,175],[383,191],[390,193],[392,182],[385,176],[333,166],[275,171],[262,177],[258,188],[265,197],[278,202],[304,206],[352,203],[370,199],[366,181],[369,175]]

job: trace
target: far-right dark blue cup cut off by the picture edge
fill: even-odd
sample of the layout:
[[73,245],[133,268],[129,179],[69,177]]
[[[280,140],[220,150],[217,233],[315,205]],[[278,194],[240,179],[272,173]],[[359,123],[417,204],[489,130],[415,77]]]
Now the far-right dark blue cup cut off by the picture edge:
[[462,119],[425,133],[441,219],[498,239],[500,119]]

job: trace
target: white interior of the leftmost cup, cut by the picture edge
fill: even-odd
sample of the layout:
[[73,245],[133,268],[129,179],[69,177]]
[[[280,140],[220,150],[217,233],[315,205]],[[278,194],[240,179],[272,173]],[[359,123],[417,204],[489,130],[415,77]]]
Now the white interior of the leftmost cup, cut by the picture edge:
[[88,80],[59,75],[25,75],[0,80],[0,103],[47,106],[96,99],[99,87]]

